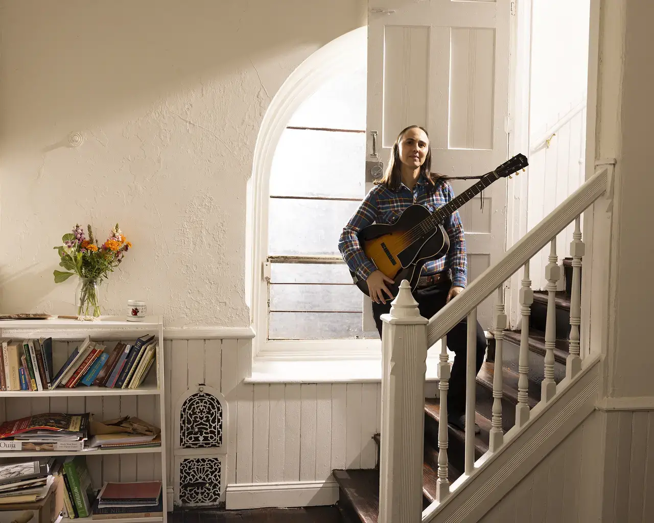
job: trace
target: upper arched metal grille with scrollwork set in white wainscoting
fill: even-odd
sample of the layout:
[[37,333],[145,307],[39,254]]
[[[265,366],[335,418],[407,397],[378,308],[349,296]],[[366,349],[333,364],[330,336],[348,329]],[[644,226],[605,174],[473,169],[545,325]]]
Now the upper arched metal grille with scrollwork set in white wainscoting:
[[222,405],[213,394],[197,392],[182,405],[179,416],[179,445],[182,448],[211,448],[222,445]]

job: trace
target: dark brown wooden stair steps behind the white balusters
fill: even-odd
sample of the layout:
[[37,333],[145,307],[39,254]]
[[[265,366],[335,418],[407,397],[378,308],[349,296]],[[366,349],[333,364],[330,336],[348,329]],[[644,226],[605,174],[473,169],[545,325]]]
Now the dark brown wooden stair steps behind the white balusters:
[[[557,292],[556,297],[556,348],[554,350],[554,379],[559,383],[566,375],[568,357],[568,335],[570,333],[570,297],[572,294],[572,258],[563,260],[566,290]],[[547,318],[547,292],[534,291],[531,306],[528,340],[528,405],[536,406],[541,397],[541,382],[544,377],[545,322]],[[494,344],[489,344],[487,360],[477,374],[476,416],[481,433],[475,435],[475,460],[489,450],[493,404],[493,379],[496,365]],[[506,433],[515,424],[515,405],[518,402],[518,360],[521,343],[520,331],[505,331],[502,350],[502,429]],[[424,400],[424,462],[422,465],[422,505],[428,507],[436,501],[436,481],[438,479],[438,428],[439,400]],[[454,482],[464,470],[464,431],[447,427],[449,435],[448,479]],[[337,506],[341,518],[347,523],[377,523],[379,514],[379,434],[373,439],[377,442],[377,468],[334,470],[333,475],[339,484]]]

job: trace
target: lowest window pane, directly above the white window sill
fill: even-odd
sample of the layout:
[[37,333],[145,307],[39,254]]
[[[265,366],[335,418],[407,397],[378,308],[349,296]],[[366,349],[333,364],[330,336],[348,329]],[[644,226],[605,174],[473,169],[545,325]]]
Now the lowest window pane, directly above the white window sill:
[[268,339],[379,339],[361,330],[361,312],[271,312]]

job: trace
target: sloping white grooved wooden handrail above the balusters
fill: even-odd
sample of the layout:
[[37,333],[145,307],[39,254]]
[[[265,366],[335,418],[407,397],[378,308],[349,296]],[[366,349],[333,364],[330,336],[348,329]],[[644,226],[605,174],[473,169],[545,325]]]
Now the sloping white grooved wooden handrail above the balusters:
[[468,312],[479,306],[490,293],[525,265],[572,220],[590,207],[607,190],[608,167],[604,166],[531,229],[502,260],[486,269],[443,309],[430,318],[427,325],[427,346],[434,345],[460,322]]

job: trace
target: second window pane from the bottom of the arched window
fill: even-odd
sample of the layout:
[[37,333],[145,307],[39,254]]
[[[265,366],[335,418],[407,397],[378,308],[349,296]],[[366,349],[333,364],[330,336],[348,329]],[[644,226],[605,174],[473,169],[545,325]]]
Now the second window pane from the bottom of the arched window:
[[363,296],[354,285],[273,284],[271,311],[361,312]]

